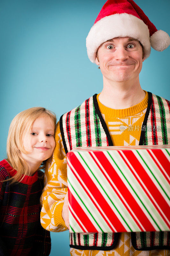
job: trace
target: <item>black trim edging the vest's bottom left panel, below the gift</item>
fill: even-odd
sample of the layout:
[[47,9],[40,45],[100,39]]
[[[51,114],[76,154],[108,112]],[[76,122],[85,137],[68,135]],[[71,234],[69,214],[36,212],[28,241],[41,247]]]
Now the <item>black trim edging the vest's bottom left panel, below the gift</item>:
[[[96,233],[97,234],[97,233]],[[101,251],[109,251],[115,248],[120,233],[114,233],[114,242],[110,246],[84,246],[84,245],[72,245],[70,244],[71,248],[75,248],[78,250],[101,250]]]

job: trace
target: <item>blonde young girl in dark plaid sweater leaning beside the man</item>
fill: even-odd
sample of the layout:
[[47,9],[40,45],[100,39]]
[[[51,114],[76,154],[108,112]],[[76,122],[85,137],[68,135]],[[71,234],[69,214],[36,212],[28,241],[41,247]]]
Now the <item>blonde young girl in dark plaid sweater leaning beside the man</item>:
[[49,232],[40,224],[43,172],[55,148],[56,116],[41,107],[11,122],[7,159],[0,162],[0,255],[49,255]]

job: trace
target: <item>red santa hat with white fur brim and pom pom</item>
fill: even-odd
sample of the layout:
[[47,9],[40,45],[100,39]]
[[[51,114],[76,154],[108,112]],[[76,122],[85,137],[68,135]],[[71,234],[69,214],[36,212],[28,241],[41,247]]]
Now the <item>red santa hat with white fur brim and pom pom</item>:
[[108,0],[86,38],[89,59],[95,62],[97,49],[102,43],[125,36],[140,41],[145,58],[149,57],[151,46],[162,52],[170,45],[169,35],[163,30],[157,30],[133,0]]

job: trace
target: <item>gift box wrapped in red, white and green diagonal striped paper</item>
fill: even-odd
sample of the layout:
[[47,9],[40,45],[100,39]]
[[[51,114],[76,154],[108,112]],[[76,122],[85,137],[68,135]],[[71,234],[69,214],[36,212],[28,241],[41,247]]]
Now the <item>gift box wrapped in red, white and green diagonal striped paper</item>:
[[67,154],[70,232],[170,230],[170,146]]

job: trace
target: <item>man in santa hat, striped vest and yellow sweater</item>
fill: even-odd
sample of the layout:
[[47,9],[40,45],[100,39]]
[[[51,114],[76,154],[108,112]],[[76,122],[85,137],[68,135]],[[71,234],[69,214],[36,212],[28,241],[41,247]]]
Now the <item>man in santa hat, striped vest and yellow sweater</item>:
[[[41,224],[69,227],[66,153],[78,146],[170,144],[170,102],[142,90],[139,73],[151,45],[170,44],[132,0],[108,0],[86,39],[88,57],[100,66],[103,90],[60,118],[48,162]],[[132,246],[133,245],[133,246]],[[71,234],[71,255],[170,255],[168,232]]]

